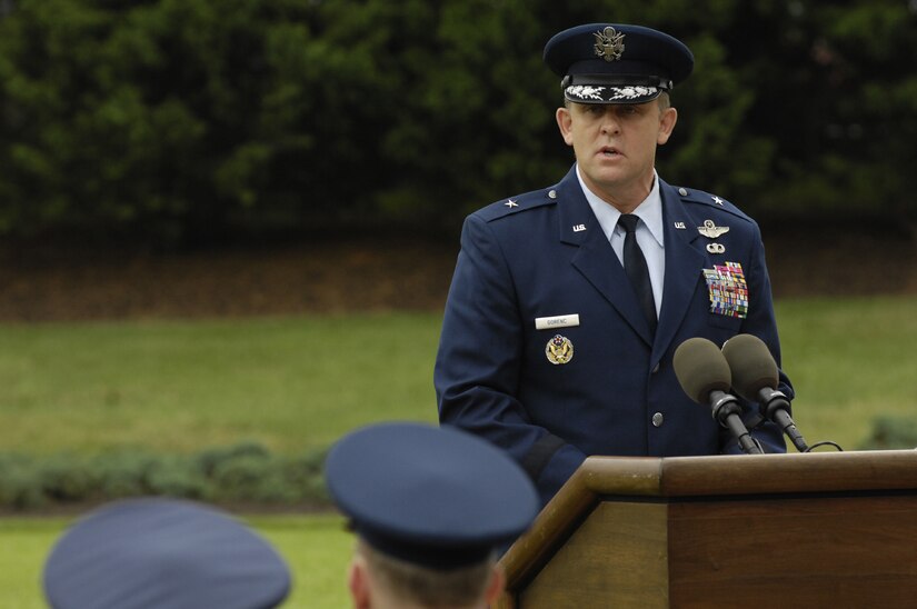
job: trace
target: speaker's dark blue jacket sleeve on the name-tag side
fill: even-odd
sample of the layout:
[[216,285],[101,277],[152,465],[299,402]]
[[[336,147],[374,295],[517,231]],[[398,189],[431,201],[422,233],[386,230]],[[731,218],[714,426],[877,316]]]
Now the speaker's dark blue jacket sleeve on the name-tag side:
[[485,219],[470,216],[462,227],[433,370],[439,420],[508,451],[545,503],[586,456],[534,425],[518,399],[522,337],[514,278],[500,243]]

